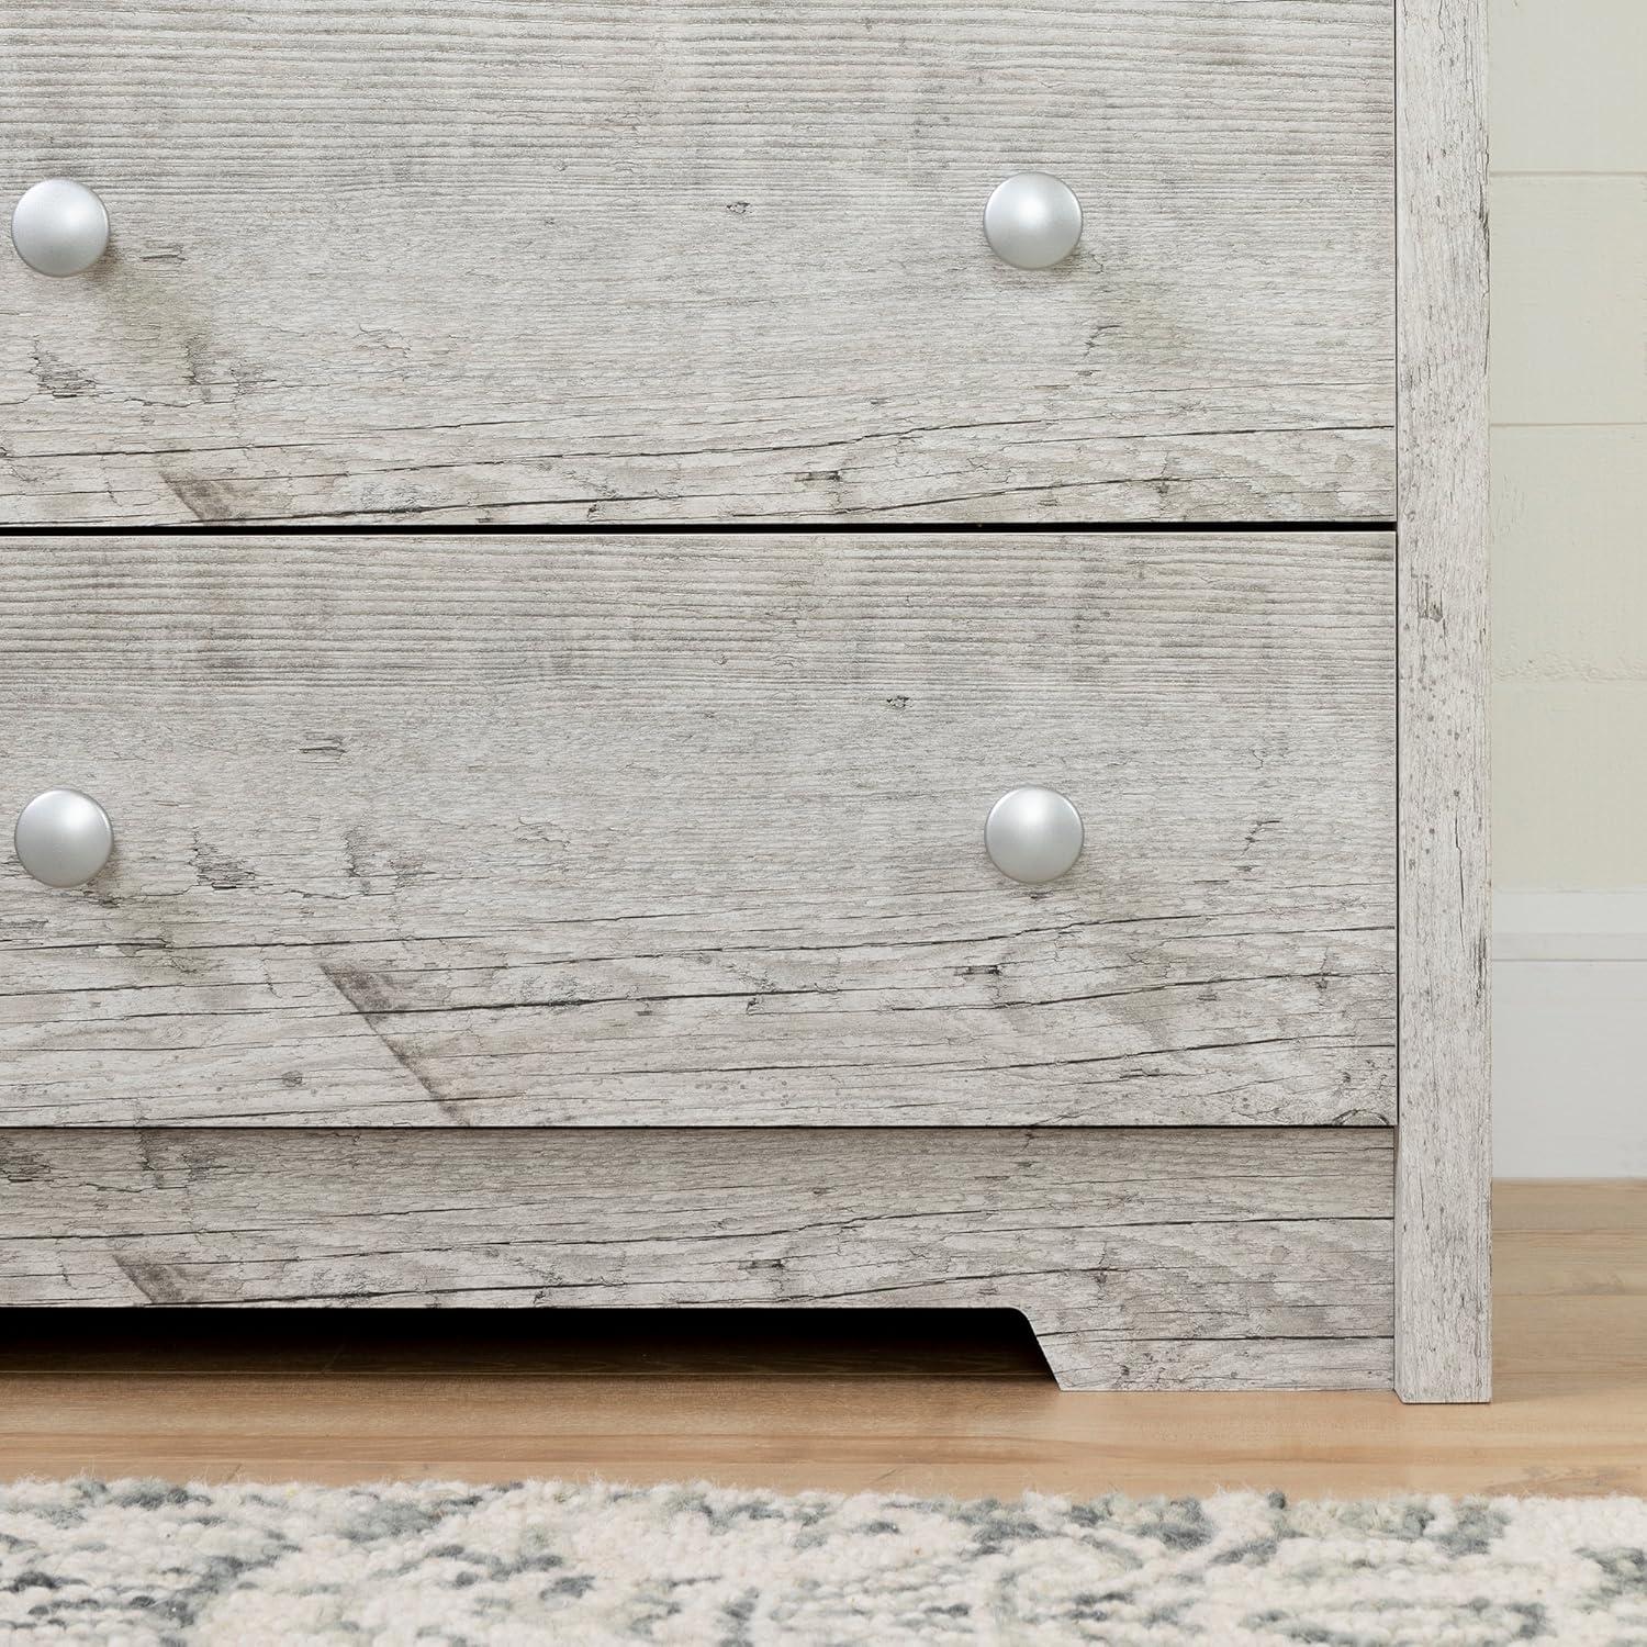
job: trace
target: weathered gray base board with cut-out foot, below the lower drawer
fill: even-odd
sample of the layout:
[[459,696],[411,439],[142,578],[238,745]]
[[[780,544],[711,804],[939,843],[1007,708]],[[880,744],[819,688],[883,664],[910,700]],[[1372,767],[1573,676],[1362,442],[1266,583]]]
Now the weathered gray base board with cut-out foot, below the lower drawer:
[[1388,1385],[1387,1130],[0,1131],[3,1304],[1008,1304],[1075,1388]]

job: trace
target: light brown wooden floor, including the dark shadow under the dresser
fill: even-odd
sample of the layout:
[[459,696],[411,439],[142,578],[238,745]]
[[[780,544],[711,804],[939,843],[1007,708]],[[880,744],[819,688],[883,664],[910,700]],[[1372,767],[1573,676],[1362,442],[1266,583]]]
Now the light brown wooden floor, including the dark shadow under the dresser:
[[0,1476],[1647,1494],[1647,1183],[1502,1184],[1497,1398],[1066,1395],[1011,1314],[0,1318]]

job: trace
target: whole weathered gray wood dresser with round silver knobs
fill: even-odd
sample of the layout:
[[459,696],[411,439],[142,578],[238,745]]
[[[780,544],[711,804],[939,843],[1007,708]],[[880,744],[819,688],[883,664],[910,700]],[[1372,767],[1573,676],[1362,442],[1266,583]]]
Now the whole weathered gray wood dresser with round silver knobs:
[[0,1304],[1489,1393],[1479,0],[18,0]]

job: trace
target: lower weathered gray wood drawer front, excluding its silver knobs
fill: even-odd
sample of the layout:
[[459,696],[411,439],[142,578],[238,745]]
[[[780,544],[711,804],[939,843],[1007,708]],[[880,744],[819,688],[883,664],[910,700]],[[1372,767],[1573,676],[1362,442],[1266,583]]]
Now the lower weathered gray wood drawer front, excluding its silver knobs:
[[[0,542],[8,1125],[1395,1118],[1393,545]],[[1039,784],[1084,850],[1003,875]]]

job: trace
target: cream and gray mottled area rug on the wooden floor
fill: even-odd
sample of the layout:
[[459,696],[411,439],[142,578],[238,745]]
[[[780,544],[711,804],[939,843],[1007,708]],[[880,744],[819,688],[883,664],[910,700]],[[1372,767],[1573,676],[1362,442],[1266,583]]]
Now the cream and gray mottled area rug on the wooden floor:
[[1647,1502],[0,1487],[0,1640],[1647,1644]]

